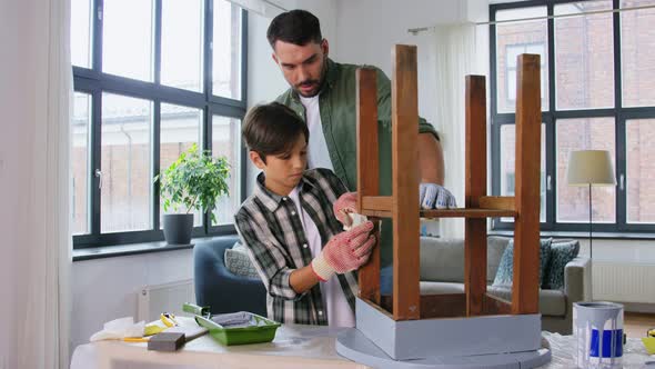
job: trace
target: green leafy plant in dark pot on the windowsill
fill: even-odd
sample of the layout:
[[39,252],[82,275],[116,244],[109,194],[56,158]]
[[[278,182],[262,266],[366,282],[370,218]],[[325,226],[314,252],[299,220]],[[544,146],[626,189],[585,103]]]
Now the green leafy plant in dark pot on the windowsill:
[[192,210],[209,211],[211,220],[216,201],[229,195],[230,164],[225,157],[213,158],[210,151],[199,151],[193,143],[167,170],[154,177],[160,182],[164,212],[170,208],[184,213],[165,213],[163,231],[169,245],[188,245],[193,230]]

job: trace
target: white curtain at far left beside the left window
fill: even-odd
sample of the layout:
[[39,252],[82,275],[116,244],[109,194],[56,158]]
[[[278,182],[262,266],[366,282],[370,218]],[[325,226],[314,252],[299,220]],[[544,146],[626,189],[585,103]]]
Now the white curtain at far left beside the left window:
[[69,0],[0,1],[0,367],[68,368]]

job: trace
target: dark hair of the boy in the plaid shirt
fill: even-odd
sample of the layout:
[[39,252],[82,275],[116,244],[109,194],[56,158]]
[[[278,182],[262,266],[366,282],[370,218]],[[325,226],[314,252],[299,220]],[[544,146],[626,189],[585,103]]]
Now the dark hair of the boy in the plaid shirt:
[[248,112],[242,129],[248,149],[259,153],[266,162],[266,156],[291,151],[300,134],[305,142],[310,131],[305,122],[290,108],[279,102],[256,106]]

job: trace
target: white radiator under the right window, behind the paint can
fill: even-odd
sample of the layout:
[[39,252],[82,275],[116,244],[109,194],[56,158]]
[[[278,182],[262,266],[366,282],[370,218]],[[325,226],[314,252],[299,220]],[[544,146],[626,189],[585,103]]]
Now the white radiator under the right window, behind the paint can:
[[655,265],[593,261],[594,300],[655,303]]

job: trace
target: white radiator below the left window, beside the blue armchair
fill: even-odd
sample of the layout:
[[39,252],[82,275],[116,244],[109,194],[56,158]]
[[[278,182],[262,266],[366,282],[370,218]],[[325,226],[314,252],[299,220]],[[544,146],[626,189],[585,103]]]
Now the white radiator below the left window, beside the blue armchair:
[[162,312],[182,313],[182,303],[195,302],[193,279],[144,286],[139,291],[139,320],[153,321]]

